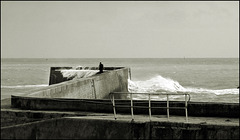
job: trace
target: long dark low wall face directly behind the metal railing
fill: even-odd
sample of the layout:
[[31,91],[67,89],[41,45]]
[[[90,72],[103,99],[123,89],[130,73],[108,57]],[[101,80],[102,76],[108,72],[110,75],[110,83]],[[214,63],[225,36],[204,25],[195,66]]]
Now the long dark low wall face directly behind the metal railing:
[[[148,114],[148,101],[136,100],[134,106],[143,106],[145,108],[134,108],[134,114]],[[152,101],[152,107],[166,107],[164,101]],[[117,113],[130,114],[129,108],[119,108],[119,104],[130,106],[129,100],[116,100]],[[185,103],[181,101],[171,101],[170,107],[184,107]],[[112,102],[110,99],[48,99],[48,98],[32,98],[12,96],[12,107],[21,109],[34,110],[78,110],[92,111],[102,113],[113,113]],[[152,108],[152,114],[166,114],[166,109]],[[170,109],[170,115],[185,116],[184,109]],[[239,104],[237,103],[203,103],[189,102],[189,116],[205,116],[205,117],[235,117],[239,118]]]

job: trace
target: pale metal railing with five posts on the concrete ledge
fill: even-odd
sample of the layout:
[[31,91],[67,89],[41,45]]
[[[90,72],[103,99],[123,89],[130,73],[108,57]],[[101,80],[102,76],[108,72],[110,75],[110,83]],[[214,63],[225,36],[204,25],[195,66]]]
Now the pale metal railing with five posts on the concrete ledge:
[[[188,112],[187,112],[187,106],[188,102],[190,101],[190,94],[189,93],[183,93],[183,92],[174,92],[174,93],[162,93],[162,92],[155,92],[155,93],[131,93],[131,92],[112,92],[109,94],[112,100],[113,104],[113,113],[114,113],[114,118],[115,120],[117,119],[117,113],[116,113],[116,103],[115,103],[115,94],[130,94],[130,101],[131,101],[131,106],[126,106],[126,105],[118,105],[118,107],[131,107],[131,116],[132,120],[134,120],[134,114],[133,114],[133,108],[148,108],[149,109],[149,120],[151,121],[151,108],[163,108],[167,109],[167,119],[169,121],[169,109],[185,109],[185,116],[186,116],[186,122],[188,122]],[[147,94],[148,95],[148,107],[144,106],[133,106],[133,94]],[[167,107],[151,107],[151,95],[166,95],[167,96]],[[169,96],[170,95],[185,95],[185,106],[184,107],[170,107],[169,106]],[[188,99],[187,99],[188,96]]]

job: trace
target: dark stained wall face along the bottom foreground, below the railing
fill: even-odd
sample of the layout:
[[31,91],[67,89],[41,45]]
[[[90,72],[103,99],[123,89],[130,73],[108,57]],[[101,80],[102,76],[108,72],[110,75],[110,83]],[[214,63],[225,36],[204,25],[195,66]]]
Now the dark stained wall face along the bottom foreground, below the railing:
[[1,139],[239,139],[239,126],[68,117],[2,127]]

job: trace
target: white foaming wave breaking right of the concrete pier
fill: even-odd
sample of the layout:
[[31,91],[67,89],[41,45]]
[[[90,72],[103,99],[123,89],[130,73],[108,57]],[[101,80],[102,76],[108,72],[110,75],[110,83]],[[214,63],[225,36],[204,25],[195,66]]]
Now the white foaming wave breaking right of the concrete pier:
[[204,89],[194,87],[183,87],[177,81],[158,75],[146,81],[131,81],[128,79],[129,92],[186,92],[186,93],[210,93],[215,95],[239,94],[239,89]]

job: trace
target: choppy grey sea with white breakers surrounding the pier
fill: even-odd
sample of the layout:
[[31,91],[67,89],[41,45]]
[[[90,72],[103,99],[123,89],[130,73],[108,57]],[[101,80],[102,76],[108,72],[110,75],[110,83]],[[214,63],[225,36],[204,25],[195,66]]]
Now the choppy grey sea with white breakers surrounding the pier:
[[139,93],[136,99],[147,99],[141,93],[183,92],[190,101],[239,103],[239,58],[1,58],[1,100],[49,86],[50,67],[100,62],[130,68],[128,90]]

